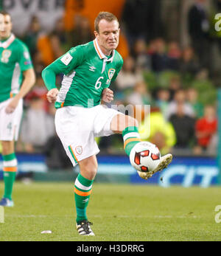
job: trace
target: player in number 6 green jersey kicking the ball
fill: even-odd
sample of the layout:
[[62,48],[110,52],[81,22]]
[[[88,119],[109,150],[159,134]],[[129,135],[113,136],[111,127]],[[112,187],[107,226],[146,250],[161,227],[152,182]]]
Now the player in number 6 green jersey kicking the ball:
[[[49,92],[47,99],[55,102],[55,126],[67,155],[73,165],[80,165],[74,183],[77,210],[77,231],[80,235],[94,235],[88,221],[86,208],[92,184],[97,173],[99,148],[97,136],[122,134],[128,156],[134,145],[141,142],[138,123],[130,116],[100,105],[110,103],[113,91],[108,89],[122,69],[123,60],[116,51],[119,44],[119,22],[112,13],[102,12],[95,19],[95,39],[88,44],[71,48],[43,70],[42,76]],[[63,73],[60,91],[55,77]],[[161,169],[172,160],[172,155],[162,157]],[[159,167],[156,171],[161,170]],[[140,173],[147,179],[147,173]]]

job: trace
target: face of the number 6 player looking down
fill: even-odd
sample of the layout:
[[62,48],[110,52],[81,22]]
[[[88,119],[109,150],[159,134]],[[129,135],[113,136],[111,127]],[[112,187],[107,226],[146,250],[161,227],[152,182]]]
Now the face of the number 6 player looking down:
[[119,44],[119,23],[117,21],[99,21],[99,32],[94,32],[100,49],[105,55],[110,55]]

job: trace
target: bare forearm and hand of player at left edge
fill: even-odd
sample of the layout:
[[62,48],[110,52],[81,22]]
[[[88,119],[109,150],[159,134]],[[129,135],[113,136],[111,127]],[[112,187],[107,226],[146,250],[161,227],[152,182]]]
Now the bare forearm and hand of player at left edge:
[[15,108],[18,105],[19,100],[24,98],[24,96],[29,92],[29,90],[34,86],[35,84],[35,72],[34,69],[27,69],[23,72],[24,80],[21,84],[21,89],[18,92],[18,94],[13,97],[13,100],[10,100],[10,103],[7,105],[7,108],[5,109],[7,114],[13,113],[15,111]]

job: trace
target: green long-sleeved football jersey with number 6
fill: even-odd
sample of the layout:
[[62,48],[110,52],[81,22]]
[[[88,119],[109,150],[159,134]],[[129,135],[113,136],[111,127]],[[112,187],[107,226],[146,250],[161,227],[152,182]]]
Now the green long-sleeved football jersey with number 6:
[[[71,48],[43,71],[43,80],[48,89],[55,88],[49,79],[49,70],[63,73],[55,108],[66,105],[80,105],[90,108],[99,105],[102,90],[108,88],[122,69],[123,59],[116,50],[105,56],[97,40]],[[48,73],[47,73],[48,71]]]

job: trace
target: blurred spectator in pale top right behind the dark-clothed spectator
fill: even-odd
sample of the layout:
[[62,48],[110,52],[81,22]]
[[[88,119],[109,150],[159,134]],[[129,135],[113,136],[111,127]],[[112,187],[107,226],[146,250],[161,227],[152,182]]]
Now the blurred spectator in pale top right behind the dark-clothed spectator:
[[[175,92],[174,100],[172,100],[171,103],[169,103],[167,111],[166,111],[166,119],[170,120],[170,117],[172,117],[173,114],[178,113],[178,105],[179,108],[179,116],[181,116],[181,113],[183,111],[183,115],[188,117],[194,117],[194,109],[192,108],[192,105],[186,102],[186,91],[183,89],[179,89]],[[182,110],[182,111],[181,111]]]

